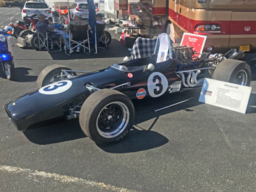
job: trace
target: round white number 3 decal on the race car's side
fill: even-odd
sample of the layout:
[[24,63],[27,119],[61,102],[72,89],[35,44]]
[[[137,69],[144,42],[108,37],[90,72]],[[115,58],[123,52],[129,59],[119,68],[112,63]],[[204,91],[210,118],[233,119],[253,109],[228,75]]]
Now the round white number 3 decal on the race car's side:
[[159,97],[166,92],[168,80],[160,72],[154,72],[148,77],[148,93],[151,97]]

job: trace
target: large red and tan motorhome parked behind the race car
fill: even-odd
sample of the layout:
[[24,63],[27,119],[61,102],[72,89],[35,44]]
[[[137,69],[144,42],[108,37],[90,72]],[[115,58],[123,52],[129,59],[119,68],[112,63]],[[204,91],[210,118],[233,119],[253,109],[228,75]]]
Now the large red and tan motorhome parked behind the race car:
[[167,32],[180,43],[183,33],[194,33],[207,36],[204,51],[256,51],[255,1],[127,0],[127,11],[144,26],[143,36]]

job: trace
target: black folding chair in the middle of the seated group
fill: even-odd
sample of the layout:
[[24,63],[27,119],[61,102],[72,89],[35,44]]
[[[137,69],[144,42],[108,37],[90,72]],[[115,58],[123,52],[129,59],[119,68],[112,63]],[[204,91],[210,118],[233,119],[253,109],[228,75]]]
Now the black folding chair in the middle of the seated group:
[[[65,49],[65,53],[70,55],[71,54],[71,49],[75,49],[79,45],[84,48],[84,53],[88,54],[88,52],[85,52],[86,49],[89,50],[89,53],[91,52],[90,50],[90,43],[89,43],[89,25],[73,25],[70,24],[70,29],[69,29],[69,53],[67,53],[67,49]],[[66,33],[65,33],[65,40],[66,40]],[[81,43],[79,43],[81,41]],[[88,42],[88,47],[86,47],[85,43]],[[74,47],[72,45],[76,44]],[[65,47],[66,41],[65,41]]]

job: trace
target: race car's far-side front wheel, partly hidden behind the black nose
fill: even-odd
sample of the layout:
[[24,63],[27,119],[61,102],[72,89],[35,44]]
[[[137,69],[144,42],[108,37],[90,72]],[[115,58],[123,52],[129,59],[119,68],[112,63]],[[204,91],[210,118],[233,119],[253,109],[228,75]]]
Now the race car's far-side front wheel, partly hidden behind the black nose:
[[[39,89],[47,84],[68,79],[68,77],[64,73],[62,73],[63,69],[71,70],[70,68],[58,64],[45,67],[44,70],[42,70],[42,72],[40,72],[39,76],[37,77],[36,87]],[[72,74],[72,76],[76,76],[76,73],[74,72],[69,73]]]

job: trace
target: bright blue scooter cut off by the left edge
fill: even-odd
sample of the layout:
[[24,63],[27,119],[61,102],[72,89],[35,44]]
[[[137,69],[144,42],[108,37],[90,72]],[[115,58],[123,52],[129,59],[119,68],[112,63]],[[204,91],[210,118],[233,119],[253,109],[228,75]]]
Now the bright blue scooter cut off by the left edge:
[[9,38],[0,31],[0,67],[3,68],[6,79],[13,80],[15,76],[12,56],[12,45]]

